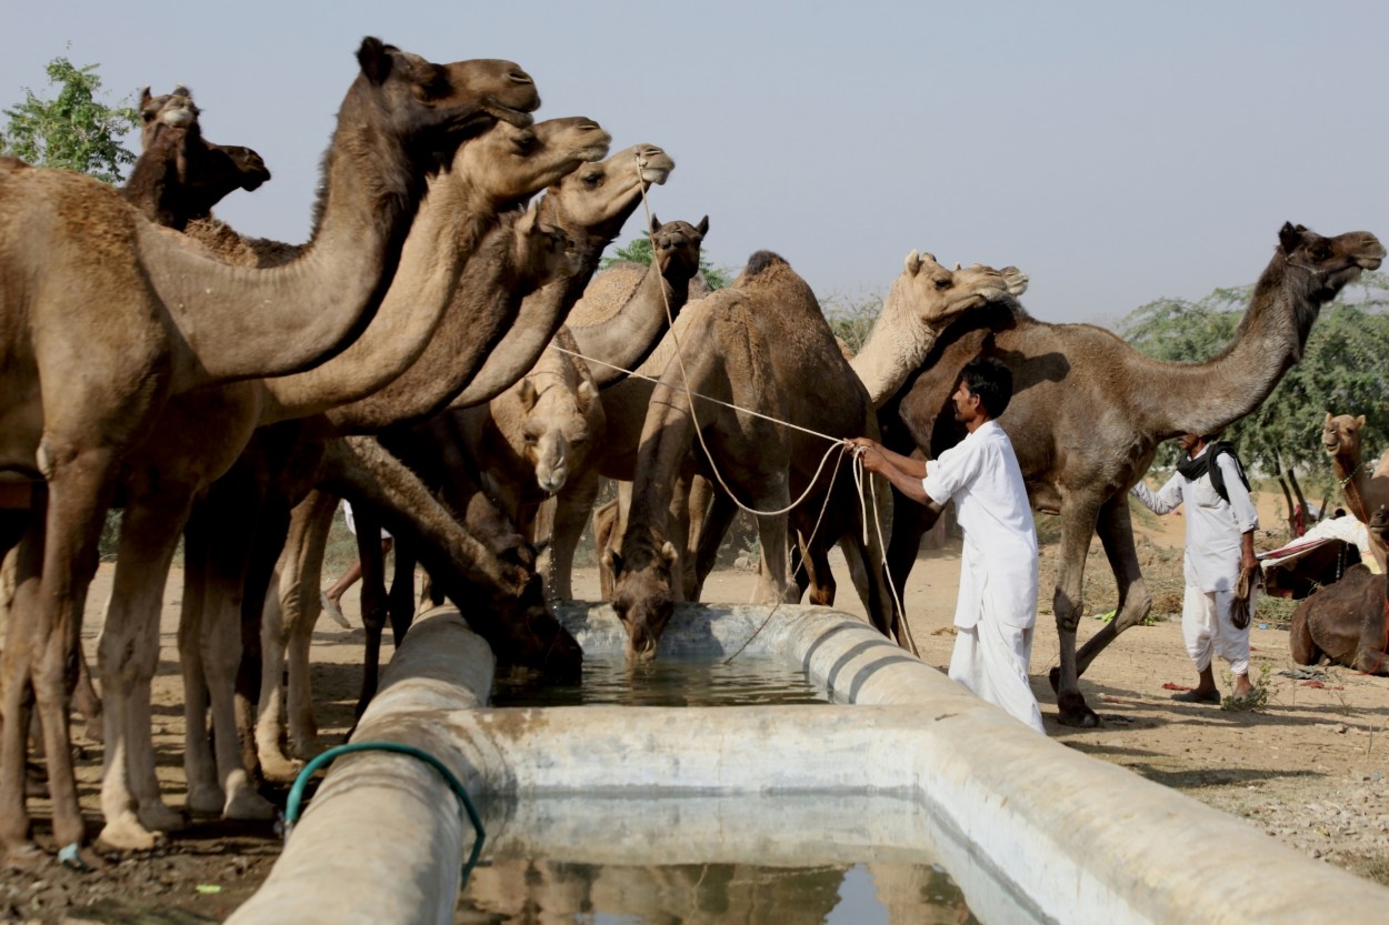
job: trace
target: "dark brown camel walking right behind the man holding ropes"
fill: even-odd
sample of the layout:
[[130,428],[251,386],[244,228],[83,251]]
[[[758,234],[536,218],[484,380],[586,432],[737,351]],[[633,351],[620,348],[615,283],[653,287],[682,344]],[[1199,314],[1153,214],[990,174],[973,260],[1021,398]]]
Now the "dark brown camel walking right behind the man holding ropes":
[[[1046,324],[1021,307],[985,308],[947,331],[915,378],[883,406],[879,414],[893,425],[895,449],[938,456],[963,438],[953,415],[942,414],[961,367],[988,353],[1013,369],[1013,403],[999,424],[1013,440],[1032,506],[1061,515],[1053,596],[1061,664],[1051,683],[1063,725],[1099,724],[1081,694],[1079,675],[1151,607],[1126,493],[1147,472],[1157,444],[1183,432],[1217,433],[1257,408],[1301,357],[1321,306],[1383,257],[1383,246],[1368,232],[1324,238],[1285,224],[1235,342],[1201,364],[1151,360],[1092,325]],[[900,588],[922,529],[939,511],[896,511],[889,567]],[[1120,600],[1114,621],[1076,651],[1081,581],[1096,532]]]

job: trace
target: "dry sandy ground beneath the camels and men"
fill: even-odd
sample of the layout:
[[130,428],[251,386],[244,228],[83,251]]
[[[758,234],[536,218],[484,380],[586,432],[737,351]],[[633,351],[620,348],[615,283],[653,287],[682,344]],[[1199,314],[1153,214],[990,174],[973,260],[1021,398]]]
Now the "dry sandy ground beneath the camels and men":
[[[1263,499],[1261,508],[1264,524],[1276,524],[1272,499]],[[1389,885],[1389,678],[1328,667],[1320,669],[1318,678],[1286,676],[1281,672],[1299,668],[1288,654],[1288,633],[1261,615],[1258,624],[1267,628],[1256,624],[1251,631],[1251,672],[1268,689],[1265,706],[1236,712],[1172,703],[1168,685],[1195,683],[1172,612],[1181,606],[1181,518],[1140,522],[1139,535],[1158,622],[1121,636],[1082,681],[1086,699],[1104,718],[1103,726],[1093,731],[1056,724],[1056,700],[1046,681],[1057,664],[1049,604],[1056,550],[1043,547],[1043,612],[1031,669],[1047,733],[1068,747],[1239,815],[1310,857]],[[1274,544],[1274,538],[1260,542],[1263,549]],[[1086,568],[1086,600],[1099,611],[1113,607],[1113,585],[1104,578],[1107,567],[1099,543],[1095,547]],[[950,621],[958,567],[957,544],[924,553],[906,599],[922,658],[942,669],[954,642]],[[113,567],[103,565],[89,597],[85,640],[93,654],[111,575]],[[718,571],[707,583],[706,600],[746,603],[754,581],[749,571]],[[840,574],[839,581],[838,604],[861,617],[847,576]],[[576,574],[575,592],[583,599],[597,597],[593,569]],[[182,683],[175,650],[181,593],[182,575],[175,574],[165,594],[164,649],[154,690],[160,774],[171,806],[183,800]],[[360,626],[356,596],[349,594],[344,604],[349,619]],[[1083,619],[1082,639],[1101,625],[1099,619]],[[351,721],[361,639],[360,629],[342,631],[326,618],[319,621],[314,682],[325,743],[340,740]],[[386,656],[389,651],[388,646]],[[1221,668],[1217,678],[1229,690],[1231,679]],[[101,747],[83,735],[75,744],[83,808],[94,835],[100,829]],[[271,785],[267,794],[282,803],[285,788]],[[39,842],[51,849],[46,800],[32,797],[29,807]],[[110,867],[97,874],[57,865],[38,879],[32,874],[0,874],[0,921],[219,921],[264,879],[278,846],[271,824],[193,819],[186,831],[171,836],[167,847],[129,856],[104,853]],[[165,910],[164,917],[150,917],[147,910],[153,908]]]

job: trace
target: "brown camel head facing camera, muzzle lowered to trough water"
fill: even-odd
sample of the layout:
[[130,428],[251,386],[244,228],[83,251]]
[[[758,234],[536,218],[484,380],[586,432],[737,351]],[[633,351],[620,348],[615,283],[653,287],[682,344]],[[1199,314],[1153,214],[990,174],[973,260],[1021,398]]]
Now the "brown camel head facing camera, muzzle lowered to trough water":
[[[635,501],[633,501],[635,503]],[[628,529],[622,551],[611,557],[613,611],[626,631],[626,657],[650,661],[675,612],[675,546],[650,528]]]

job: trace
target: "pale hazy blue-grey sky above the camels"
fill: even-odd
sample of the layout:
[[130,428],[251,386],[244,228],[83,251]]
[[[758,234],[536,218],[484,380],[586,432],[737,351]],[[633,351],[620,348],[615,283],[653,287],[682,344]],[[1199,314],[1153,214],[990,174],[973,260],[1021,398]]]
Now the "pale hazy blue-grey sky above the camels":
[[218,214],[282,240],[308,235],[364,35],[517,61],[539,118],[669,151],[653,207],[707,214],[713,262],[775,250],[822,299],[885,292],[920,249],[1021,267],[1043,319],[1113,324],[1251,282],[1285,219],[1389,236],[1383,0],[3,6],[0,104],[51,96],[57,56],[100,64],[111,103],[186,83],[208,138],[275,175]]

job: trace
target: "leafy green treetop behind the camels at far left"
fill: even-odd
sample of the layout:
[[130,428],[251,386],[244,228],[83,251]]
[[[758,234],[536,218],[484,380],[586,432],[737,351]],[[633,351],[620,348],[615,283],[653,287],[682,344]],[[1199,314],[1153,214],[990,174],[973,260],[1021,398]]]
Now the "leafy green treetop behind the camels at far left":
[[4,110],[10,121],[0,132],[0,153],[119,183],[135,154],[117,139],[139,126],[140,117],[131,106],[97,100],[97,67],[79,68],[64,57],[49,61],[49,83],[61,85],[57,99],[40,99],[25,88],[24,103]]

